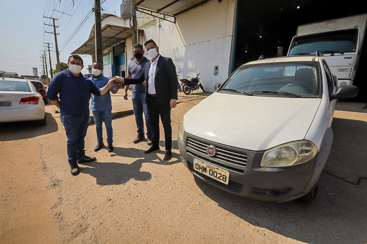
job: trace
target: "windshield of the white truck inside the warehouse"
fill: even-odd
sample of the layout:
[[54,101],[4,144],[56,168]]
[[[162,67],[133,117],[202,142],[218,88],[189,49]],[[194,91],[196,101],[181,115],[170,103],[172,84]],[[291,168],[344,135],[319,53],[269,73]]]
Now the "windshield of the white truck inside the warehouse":
[[295,37],[288,56],[351,53],[356,51],[358,29]]

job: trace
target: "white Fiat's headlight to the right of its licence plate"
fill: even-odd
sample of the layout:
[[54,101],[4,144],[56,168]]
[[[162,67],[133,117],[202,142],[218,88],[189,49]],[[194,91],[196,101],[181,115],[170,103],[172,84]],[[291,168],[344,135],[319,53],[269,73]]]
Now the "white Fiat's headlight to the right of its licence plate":
[[316,145],[309,141],[290,142],[276,146],[264,153],[260,166],[286,167],[305,163],[319,152]]

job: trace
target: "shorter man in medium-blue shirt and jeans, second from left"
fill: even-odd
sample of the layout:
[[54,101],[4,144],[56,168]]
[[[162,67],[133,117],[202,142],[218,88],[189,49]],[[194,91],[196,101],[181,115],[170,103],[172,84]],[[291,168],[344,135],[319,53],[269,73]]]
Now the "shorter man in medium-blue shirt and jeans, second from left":
[[[102,75],[102,64],[100,62],[93,62],[92,65],[92,77],[91,81],[97,86],[101,88],[105,86],[110,79]],[[111,87],[110,91],[114,94],[117,93],[119,89],[118,85]],[[114,150],[114,146],[112,145],[112,101],[111,94],[107,92],[103,96],[94,96],[92,94],[92,102],[91,102],[91,110],[93,113],[95,130],[97,131],[97,146],[94,148],[94,152],[99,151],[103,146],[103,137],[102,137],[102,121],[105,122],[106,131],[107,131],[107,150],[112,152]]]

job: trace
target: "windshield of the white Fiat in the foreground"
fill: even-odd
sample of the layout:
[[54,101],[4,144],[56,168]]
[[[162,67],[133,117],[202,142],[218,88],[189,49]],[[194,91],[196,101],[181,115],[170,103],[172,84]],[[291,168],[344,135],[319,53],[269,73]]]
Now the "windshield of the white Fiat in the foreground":
[[318,62],[242,65],[218,92],[251,96],[315,97],[319,95]]

